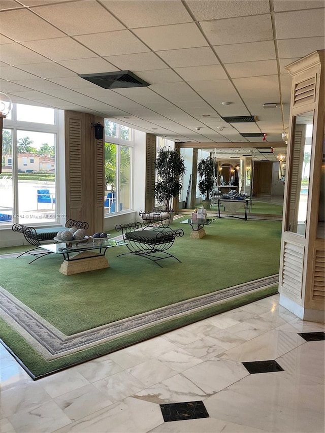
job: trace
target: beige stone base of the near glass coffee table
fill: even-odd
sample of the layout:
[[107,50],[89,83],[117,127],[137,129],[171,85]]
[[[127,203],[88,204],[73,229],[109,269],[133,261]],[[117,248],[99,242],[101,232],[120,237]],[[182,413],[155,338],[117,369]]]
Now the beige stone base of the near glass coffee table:
[[[76,257],[78,257],[78,260],[76,260]],[[75,256],[74,260],[64,260],[60,267],[60,273],[73,275],[109,267],[110,265],[105,256],[94,253],[93,251],[83,251]]]

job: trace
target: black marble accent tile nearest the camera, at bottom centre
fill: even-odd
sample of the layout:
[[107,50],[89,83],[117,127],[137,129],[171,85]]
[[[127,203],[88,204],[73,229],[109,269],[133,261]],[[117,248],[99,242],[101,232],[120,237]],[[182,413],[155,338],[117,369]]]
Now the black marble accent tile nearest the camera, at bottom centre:
[[183,419],[209,418],[202,401],[186,403],[169,403],[160,405],[164,421],[181,421]]

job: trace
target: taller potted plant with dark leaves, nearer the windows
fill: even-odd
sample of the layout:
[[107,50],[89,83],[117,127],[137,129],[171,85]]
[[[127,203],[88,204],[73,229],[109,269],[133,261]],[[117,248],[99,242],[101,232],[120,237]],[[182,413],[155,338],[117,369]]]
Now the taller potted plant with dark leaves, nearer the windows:
[[184,158],[170,147],[164,147],[155,160],[157,181],[154,188],[157,202],[164,206],[164,212],[173,212],[172,200],[183,188],[185,174]]

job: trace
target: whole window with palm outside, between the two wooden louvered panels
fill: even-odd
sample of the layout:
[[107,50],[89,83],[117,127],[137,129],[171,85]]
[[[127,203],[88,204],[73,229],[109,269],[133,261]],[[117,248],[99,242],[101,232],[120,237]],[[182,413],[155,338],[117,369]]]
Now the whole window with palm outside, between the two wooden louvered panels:
[[105,216],[132,208],[132,129],[105,120]]

